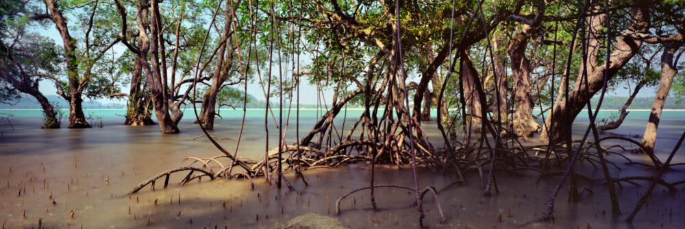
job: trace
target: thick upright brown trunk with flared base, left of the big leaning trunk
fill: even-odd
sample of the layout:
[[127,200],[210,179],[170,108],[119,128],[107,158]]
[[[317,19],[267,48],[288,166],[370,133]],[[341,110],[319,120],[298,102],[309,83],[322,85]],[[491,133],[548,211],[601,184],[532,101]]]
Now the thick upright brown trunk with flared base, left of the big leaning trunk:
[[525,57],[525,48],[530,40],[530,32],[533,29],[530,25],[523,25],[523,28],[516,34],[514,43],[508,49],[512,60],[512,78],[514,79],[514,134],[517,136],[532,136],[540,131],[540,125],[533,121],[532,103],[530,101],[530,72],[532,71],[530,61]]

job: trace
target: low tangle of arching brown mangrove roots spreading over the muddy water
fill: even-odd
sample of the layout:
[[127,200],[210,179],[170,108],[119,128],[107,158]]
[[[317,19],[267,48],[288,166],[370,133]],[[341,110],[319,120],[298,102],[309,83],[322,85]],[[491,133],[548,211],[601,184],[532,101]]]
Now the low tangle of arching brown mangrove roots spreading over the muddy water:
[[[553,170],[553,166],[568,165],[572,158],[571,155],[564,153],[566,152],[564,144],[535,145],[530,147],[523,147],[523,145],[521,145],[521,143],[518,143],[518,141],[509,140],[508,142],[512,143],[515,146],[497,147],[493,149],[488,145],[488,147],[483,146],[484,148],[482,148],[481,150],[477,150],[476,146],[477,144],[479,144],[479,142],[475,142],[470,143],[469,147],[467,147],[466,145],[462,145],[462,147],[454,147],[452,152],[448,155],[448,150],[432,149],[426,147],[426,145],[423,145],[419,141],[417,141],[417,144],[414,145],[416,147],[416,160],[412,160],[412,152],[409,149],[410,141],[406,139],[408,138],[408,136],[405,136],[403,134],[386,134],[384,135],[384,138],[386,139],[373,140],[373,138],[364,139],[363,137],[350,137],[345,139],[345,141],[342,141],[335,145],[308,143],[307,145],[298,146],[298,143],[293,143],[292,145],[284,145],[283,147],[281,147],[282,150],[280,152],[278,151],[277,147],[271,149],[268,152],[266,158],[261,158],[260,160],[251,160],[249,158],[244,157],[236,158],[234,160],[226,155],[219,155],[210,158],[186,157],[182,160],[182,162],[185,162],[186,160],[192,161],[190,162],[188,167],[180,167],[177,169],[172,169],[160,173],[154,176],[153,178],[150,178],[149,180],[146,180],[145,182],[142,182],[141,184],[136,186],[136,188],[131,193],[136,193],[140,191],[140,189],[142,189],[143,187],[148,186],[149,184],[154,185],[155,182],[162,177],[164,177],[164,187],[166,188],[166,186],[168,186],[169,184],[169,177],[171,176],[171,174],[177,173],[179,171],[188,172],[187,176],[184,179],[182,179],[181,182],[179,182],[179,185],[186,184],[191,180],[199,179],[203,176],[209,176],[210,180],[214,180],[220,177],[226,179],[242,177],[247,178],[247,180],[249,180],[251,184],[251,189],[254,189],[253,178],[256,178],[258,176],[264,176],[264,174],[266,173],[264,171],[264,169],[266,169],[264,167],[264,164],[268,163],[269,165],[274,165],[278,162],[277,158],[279,157],[279,154],[281,156],[282,154],[286,154],[286,157],[282,158],[281,160],[281,162],[284,164],[284,170],[287,171],[288,169],[293,169],[295,171],[296,179],[298,176],[300,176],[303,179],[303,176],[300,173],[300,171],[302,170],[333,168],[337,167],[338,165],[344,165],[347,163],[369,162],[371,160],[374,160],[376,163],[379,164],[389,164],[397,166],[410,165],[412,162],[415,162],[416,165],[425,165],[426,169],[430,169],[434,172],[442,171],[443,173],[447,173],[447,171],[454,170],[456,180],[458,181],[447,185],[442,190],[447,189],[455,184],[463,183],[464,176],[466,173],[477,173],[479,174],[479,176],[481,176],[481,180],[484,180],[484,178],[486,177],[486,174],[484,174],[485,169],[493,169],[493,171],[503,171],[509,173],[523,173],[523,171],[536,171],[540,173],[539,178],[560,176],[564,173]],[[610,139],[627,141],[634,145],[639,144],[630,138],[623,138],[620,136],[609,136],[605,138],[600,138],[599,141],[597,141],[597,143],[601,143],[601,141],[606,141]],[[480,141],[482,142],[483,140]],[[481,145],[483,144],[481,143]],[[641,145],[638,146],[642,148]],[[373,149],[374,147],[379,150],[377,151],[377,154],[375,154],[375,158],[372,158],[370,152],[371,149]],[[295,152],[301,152],[301,157],[294,158],[292,155],[295,154]],[[580,149],[580,154],[578,154],[577,160],[592,165],[593,167],[599,167],[599,165],[601,165],[602,163],[606,163],[604,165],[610,165],[616,169],[621,169],[621,167],[618,166],[620,163],[616,162],[616,160],[601,162],[599,158],[599,154],[601,153],[605,156],[611,155],[616,156],[615,158],[623,158],[625,160],[624,164],[627,165],[645,165],[649,168],[660,169],[660,161],[656,158],[652,158],[651,154],[649,155],[651,158],[651,162],[653,162],[653,165],[649,165],[649,162],[646,164],[643,162],[631,160],[627,156],[623,155],[625,154],[625,152],[627,152],[627,149],[625,149],[625,147],[621,145],[611,145],[610,147],[602,147],[601,145],[595,143],[586,143],[586,146]],[[493,160],[493,156],[497,156],[497,160]],[[242,169],[240,169],[240,171],[238,172],[233,172],[233,174],[230,174],[228,170],[231,167],[229,166],[231,164],[240,165]],[[543,165],[549,165],[549,167],[545,167]],[[685,163],[674,164],[671,166],[677,165],[685,165]],[[214,171],[213,169],[217,170]],[[275,171],[275,167],[270,166],[269,171],[271,170]],[[286,186],[288,186],[288,189],[290,189],[291,191],[296,191],[290,183],[290,181],[282,173],[276,173],[279,175],[273,173],[271,174],[272,176],[281,176],[281,178],[285,181]],[[576,178],[580,178],[580,180],[583,180],[584,182],[590,182],[590,184],[592,184],[590,188],[584,187],[583,189],[583,191],[587,191],[588,193],[593,193],[592,186],[596,186],[600,182],[606,182],[606,178],[589,178],[588,176],[578,173],[575,174],[575,176]],[[638,186],[640,184],[637,181],[640,180],[653,181],[649,177],[638,176],[627,178],[611,178],[611,181],[621,188],[625,183],[634,184]],[[303,182],[306,183],[304,179]],[[496,184],[494,180],[493,184]],[[669,189],[669,191],[676,191],[676,186],[685,184],[685,180],[673,183],[665,182],[664,180],[657,180],[656,184],[666,187],[667,189]],[[485,185],[483,184],[483,186]],[[406,189],[409,191],[416,192],[414,188],[394,184],[378,184],[374,185],[373,187]],[[338,198],[336,202],[336,214],[340,214],[340,202],[342,202],[342,200],[345,199],[345,197],[366,189],[370,189],[370,187],[364,186],[355,189]],[[497,191],[497,186],[495,186],[495,189]],[[436,199],[436,206],[438,208],[438,212],[440,213],[441,222],[444,222],[445,215],[438,200],[437,189],[435,189],[432,186],[425,187],[425,189],[423,189],[421,193],[419,193],[420,199],[417,200],[423,200],[423,197],[425,197],[425,195],[428,192],[432,193],[434,198]],[[414,202],[418,202],[417,200],[414,200]],[[553,202],[547,203],[548,210],[553,209],[552,204]],[[551,213],[551,211],[549,211],[549,213]]]

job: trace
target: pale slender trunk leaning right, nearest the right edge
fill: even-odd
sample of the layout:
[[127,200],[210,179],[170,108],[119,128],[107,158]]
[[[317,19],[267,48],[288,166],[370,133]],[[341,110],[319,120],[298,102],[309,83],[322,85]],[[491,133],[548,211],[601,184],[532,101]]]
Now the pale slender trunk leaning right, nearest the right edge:
[[661,112],[666,103],[666,97],[669,96],[671,84],[673,83],[673,76],[678,72],[673,63],[673,53],[679,48],[675,43],[667,43],[664,46],[664,52],[661,54],[661,80],[659,82],[659,89],[656,91],[654,103],[651,105],[651,114],[649,115],[649,122],[645,129],[643,136],[643,145],[648,153],[654,152],[654,143],[656,143],[656,129],[659,127],[661,119]]

